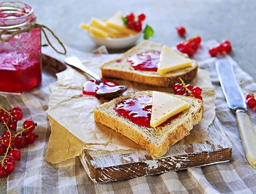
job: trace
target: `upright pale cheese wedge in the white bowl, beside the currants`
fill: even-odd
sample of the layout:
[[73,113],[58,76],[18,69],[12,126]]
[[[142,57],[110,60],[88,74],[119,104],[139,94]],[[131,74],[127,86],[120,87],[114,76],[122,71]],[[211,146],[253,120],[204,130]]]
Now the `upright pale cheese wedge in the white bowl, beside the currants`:
[[138,32],[135,30],[131,30],[128,27],[124,25],[124,22],[122,20],[122,13],[119,11],[114,15],[112,18],[108,19],[106,22],[106,25],[109,27],[113,27],[114,29],[127,34],[137,34]]

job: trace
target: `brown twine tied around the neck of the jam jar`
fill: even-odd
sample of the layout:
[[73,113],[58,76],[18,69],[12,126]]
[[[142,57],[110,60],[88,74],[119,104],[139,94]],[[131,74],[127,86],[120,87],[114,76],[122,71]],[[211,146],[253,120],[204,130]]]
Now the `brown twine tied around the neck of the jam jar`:
[[[6,33],[10,33],[10,30],[13,30],[13,29],[4,29],[0,32],[0,41],[3,41],[3,42],[8,42],[10,39],[14,38],[17,34],[19,33],[23,33],[23,32],[30,32],[32,29],[35,29],[35,28],[39,28],[43,31],[44,33],[44,36],[46,38],[46,40],[48,41],[49,45],[52,47],[53,50],[55,50],[57,53],[59,54],[66,54],[66,48],[64,46],[64,44],[62,43],[62,41],[60,41],[60,39],[55,35],[55,33],[53,33],[53,31],[51,29],[49,29],[49,27],[43,25],[43,24],[38,24],[38,23],[31,23],[30,25],[24,27],[23,29],[21,28],[16,28],[17,30],[15,32],[11,32],[10,36],[8,38],[2,38],[2,35],[3,34],[6,34]],[[50,42],[46,32],[45,32],[45,29],[48,30],[53,37],[56,38],[56,40],[58,40],[58,43],[60,44],[60,46],[63,47],[63,52],[60,52],[58,51]]]

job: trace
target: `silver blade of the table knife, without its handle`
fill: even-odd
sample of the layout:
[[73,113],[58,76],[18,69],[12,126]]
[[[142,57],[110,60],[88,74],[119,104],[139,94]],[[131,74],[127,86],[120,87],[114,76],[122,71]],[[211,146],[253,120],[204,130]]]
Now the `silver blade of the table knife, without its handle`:
[[218,59],[216,61],[216,70],[223,89],[228,107],[232,110],[241,108],[247,110],[244,94],[234,75],[234,68],[228,59]]

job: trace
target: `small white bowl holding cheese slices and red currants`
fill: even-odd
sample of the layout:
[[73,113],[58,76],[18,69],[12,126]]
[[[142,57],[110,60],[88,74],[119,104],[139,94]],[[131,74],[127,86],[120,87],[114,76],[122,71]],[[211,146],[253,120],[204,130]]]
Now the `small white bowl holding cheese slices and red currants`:
[[97,38],[92,34],[89,35],[92,41],[99,46],[105,45],[107,49],[124,49],[135,45],[141,34],[142,32],[125,38]]

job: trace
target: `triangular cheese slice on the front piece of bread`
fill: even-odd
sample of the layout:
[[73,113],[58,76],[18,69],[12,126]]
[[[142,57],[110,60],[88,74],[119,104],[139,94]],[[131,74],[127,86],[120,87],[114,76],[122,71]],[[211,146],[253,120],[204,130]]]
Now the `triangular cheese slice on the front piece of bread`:
[[188,108],[188,103],[163,92],[152,92],[150,126],[157,127],[170,117]]

